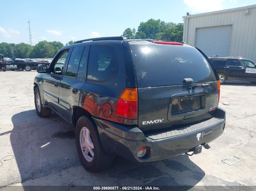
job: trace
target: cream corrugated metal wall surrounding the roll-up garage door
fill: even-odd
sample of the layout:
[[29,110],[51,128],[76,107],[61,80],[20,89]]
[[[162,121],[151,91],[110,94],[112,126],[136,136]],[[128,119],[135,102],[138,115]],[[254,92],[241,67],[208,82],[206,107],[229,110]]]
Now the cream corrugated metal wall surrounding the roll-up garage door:
[[[196,29],[232,25],[229,56],[242,56],[256,63],[256,7],[244,10],[184,17],[183,41],[195,46]],[[192,15],[191,15],[192,16]]]

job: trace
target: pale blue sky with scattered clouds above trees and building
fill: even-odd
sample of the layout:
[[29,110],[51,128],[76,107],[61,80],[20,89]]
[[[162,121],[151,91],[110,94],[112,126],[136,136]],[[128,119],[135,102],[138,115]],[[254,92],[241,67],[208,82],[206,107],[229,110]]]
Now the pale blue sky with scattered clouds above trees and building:
[[86,1],[0,0],[0,43],[32,43],[120,36],[150,18],[181,23],[187,12],[198,14],[255,4],[255,0],[130,0]]

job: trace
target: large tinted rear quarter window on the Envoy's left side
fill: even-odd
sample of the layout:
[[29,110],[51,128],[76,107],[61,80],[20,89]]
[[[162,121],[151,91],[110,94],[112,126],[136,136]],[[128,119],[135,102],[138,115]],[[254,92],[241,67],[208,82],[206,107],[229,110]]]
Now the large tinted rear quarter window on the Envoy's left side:
[[105,81],[117,71],[117,56],[112,46],[91,46],[87,79]]

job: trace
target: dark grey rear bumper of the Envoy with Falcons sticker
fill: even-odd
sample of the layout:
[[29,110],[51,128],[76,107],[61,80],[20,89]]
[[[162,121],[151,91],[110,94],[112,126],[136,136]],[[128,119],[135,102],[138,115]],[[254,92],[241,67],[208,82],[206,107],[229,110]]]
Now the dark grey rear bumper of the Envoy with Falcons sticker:
[[[106,154],[118,155],[134,162],[151,162],[184,154],[191,148],[208,144],[218,138],[224,131],[226,117],[225,110],[221,108],[216,110],[214,123],[166,138],[146,136],[136,126],[126,126],[95,117],[93,119],[98,127],[101,144]],[[141,147],[150,149],[151,154],[145,159],[137,156]]]

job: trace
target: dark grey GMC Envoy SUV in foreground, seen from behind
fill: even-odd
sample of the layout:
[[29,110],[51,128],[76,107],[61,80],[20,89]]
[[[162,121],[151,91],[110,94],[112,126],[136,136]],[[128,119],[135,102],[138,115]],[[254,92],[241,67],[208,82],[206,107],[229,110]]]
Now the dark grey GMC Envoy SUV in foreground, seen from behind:
[[38,116],[54,110],[73,126],[81,164],[92,172],[116,155],[150,162],[198,154],[225,128],[218,74],[185,43],[81,40],[37,71]]

